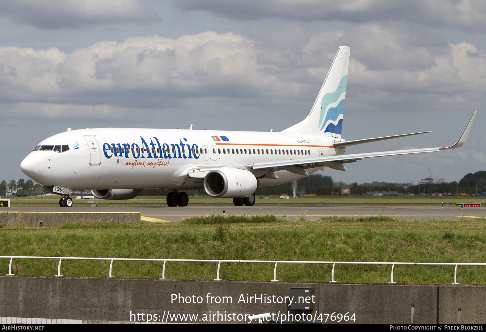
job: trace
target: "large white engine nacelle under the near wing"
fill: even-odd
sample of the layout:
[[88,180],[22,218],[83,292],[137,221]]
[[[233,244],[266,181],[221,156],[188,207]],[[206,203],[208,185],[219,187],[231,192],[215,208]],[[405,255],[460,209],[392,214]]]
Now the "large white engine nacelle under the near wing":
[[211,197],[242,198],[253,194],[258,180],[249,171],[225,167],[210,171],[204,177],[204,190]]

